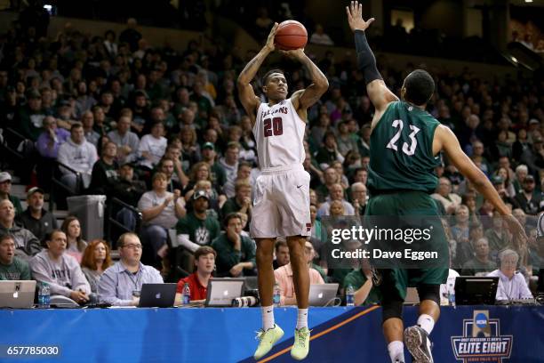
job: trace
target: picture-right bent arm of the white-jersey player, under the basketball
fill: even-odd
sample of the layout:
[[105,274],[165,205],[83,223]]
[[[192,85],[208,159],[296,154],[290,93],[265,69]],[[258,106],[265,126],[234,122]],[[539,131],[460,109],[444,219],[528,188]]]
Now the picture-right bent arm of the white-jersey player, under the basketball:
[[300,63],[304,65],[312,78],[312,84],[304,90],[297,91],[292,94],[291,101],[293,107],[297,111],[305,111],[310,106],[312,106],[316,101],[318,101],[321,96],[329,88],[329,81],[327,77],[324,76],[321,69],[319,69],[312,60],[308,58],[308,55],[304,52],[304,49],[297,49],[294,51],[287,51],[284,54],[299,60]]

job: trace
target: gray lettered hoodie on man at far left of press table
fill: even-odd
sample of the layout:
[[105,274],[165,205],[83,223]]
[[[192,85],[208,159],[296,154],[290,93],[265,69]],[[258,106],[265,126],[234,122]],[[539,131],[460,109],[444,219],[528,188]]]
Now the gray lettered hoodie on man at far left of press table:
[[79,263],[69,254],[62,254],[59,261],[53,262],[48,250],[44,249],[30,260],[30,269],[36,281],[49,284],[52,295],[61,294],[70,297],[72,291],[79,289],[91,294],[91,286]]

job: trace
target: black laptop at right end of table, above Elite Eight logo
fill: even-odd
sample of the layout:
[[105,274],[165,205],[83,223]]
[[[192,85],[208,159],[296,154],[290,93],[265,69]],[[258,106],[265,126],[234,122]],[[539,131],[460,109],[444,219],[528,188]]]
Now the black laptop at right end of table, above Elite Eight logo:
[[498,287],[498,277],[460,276],[455,278],[455,303],[494,305]]

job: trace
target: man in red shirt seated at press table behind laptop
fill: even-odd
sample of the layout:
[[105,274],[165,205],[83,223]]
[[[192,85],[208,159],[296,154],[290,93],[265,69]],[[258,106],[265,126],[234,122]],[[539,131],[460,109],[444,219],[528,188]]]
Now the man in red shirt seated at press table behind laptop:
[[185,284],[189,285],[189,290],[191,292],[190,301],[192,303],[204,303],[208,294],[208,281],[212,277],[213,270],[215,270],[216,257],[217,253],[211,246],[201,246],[196,249],[195,272],[187,278],[181,278],[180,281],[178,281],[176,303],[181,303],[181,294],[183,294],[183,287]]

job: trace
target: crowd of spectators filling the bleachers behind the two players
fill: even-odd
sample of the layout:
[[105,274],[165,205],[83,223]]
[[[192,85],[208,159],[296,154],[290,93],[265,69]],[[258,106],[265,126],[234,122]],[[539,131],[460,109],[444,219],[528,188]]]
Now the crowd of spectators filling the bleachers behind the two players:
[[[66,28],[56,38],[38,38],[29,27],[8,32],[0,51],[0,129],[4,143],[14,143],[13,149],[25,157],[18,163],[4,156],[4,165],[29,189],[23,211],[9,192],[12,176],[0,173],[0,235],[16,237],[15,254],[30,261],[38,280],[45,280],[39,266],[46,263],[66,260],[68,270],[77,270],[81,262],[84,270],[68,275],[83,279],[59,277],[64,287],[59,292],[77,302],[88,300],[101,273],[109,276],[103,271],[111,263],[111,245],[92,241],[87,246],[77,220],[67,219],[62,231],[56,230],[54,218],[43,208],[55,168],[68,190],[106,195],[108,201],[119,198],[140,211],[140,230],[135,230],[139,223],[131,208],[115,211],[126,230],[138,233],[124,235],[116,246],[122,261],[140,266],[141,256],[168,279],[178,268],[192,272],[196,264],[205,270],[196,255],[212,254],[217,276],[256,272],[255,243],[247,230],[252,186],[260,171],[252,125],[236,92],[236,77],[247,60],[196,41],[176,52],[148,44],[137,28],[129,29],[122,41],[111,31],[86,36],[76,28]],[[364,214],[372,104],[362,73],[351,64],[336,62],[332,54],[318,64],[331,87],[308,110],[304,167],[311,175],[310,240],[315,250],[308,252],[308,263],[322,279],[342,285],[350,276],[349,281],[364,286],[366,267],[351,275],[351,270],[326,268],[319,257],[324,245],[319,220]],[[292,91],[308,85],[300,65],[283,66]],[[399,94],[402,80],[414,68],[408,64],[380,71]],[[544,209],[544,83],[538,77],[488,81],[468,69],[456,75],[429,71],[436,77],[436,93],[428,112],[452,128],[526,226],[529,253],[519,256],[517,268],[530,278],[541,266],[532,217]],[[260,94],[259,81],[255,89]],[[499,254],[512,246],[500,217],[447,160],[436,173],[440,179],[433,198],[452,217],[452,267],[470,274],[497,270]],[[108,207],[113,206],[108,202]],[[176,230],[176,238],[169,230]],[[203,253],[203,246],[213,249]],[[128,269],[119,264],[109,268]],[[149,281],[163,279],[156,271],[144,271]],[[123,283],[119,281],[110,276],[106,289]],[[81,291],[76,289],[80,283]],[[130,303],[134,289],[125,290],[126,296],[115,298]]]

